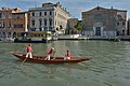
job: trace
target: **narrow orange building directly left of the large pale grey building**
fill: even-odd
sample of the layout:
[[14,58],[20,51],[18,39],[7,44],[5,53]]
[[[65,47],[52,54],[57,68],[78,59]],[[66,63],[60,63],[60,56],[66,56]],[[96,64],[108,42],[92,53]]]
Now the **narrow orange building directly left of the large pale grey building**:
[[18,32],[28,31],[28,12],[12,13],[12,37],[16,38]]

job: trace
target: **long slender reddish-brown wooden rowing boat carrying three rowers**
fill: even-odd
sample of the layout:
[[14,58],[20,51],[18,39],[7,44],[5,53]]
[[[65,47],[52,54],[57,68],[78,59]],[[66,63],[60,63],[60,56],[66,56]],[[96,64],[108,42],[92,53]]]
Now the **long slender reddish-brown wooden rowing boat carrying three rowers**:
[[[12,53],[15,57],[17,57],[21,60],[25,60],[26,54],[22,53]],[[26,61],[28,62],[35,62],[35,63],[43,63],[43,64],[62,64],[62,63],[77,63],[81,61],[89,60],[89,58],[82,57],[72,57],[72,59],[65,59],[65,57],[51,57],[51,60],[46,60],[47,56],[32,56],[32,58],[27,58]]]

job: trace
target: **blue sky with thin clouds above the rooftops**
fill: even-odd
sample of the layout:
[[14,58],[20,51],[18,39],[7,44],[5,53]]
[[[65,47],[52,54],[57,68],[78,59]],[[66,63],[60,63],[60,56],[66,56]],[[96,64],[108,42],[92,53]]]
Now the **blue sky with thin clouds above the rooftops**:
[[56,3],[60,2],[63,8],[70,13],[72,18],[81,20],[81,12],[87,12],[95,6],[105,9],[125,10],[130,18],[130,0],[0,0],[0,8],[20,8],[22,11],[28,11],[30,8],[41,8],[42,3]]

